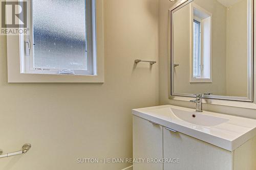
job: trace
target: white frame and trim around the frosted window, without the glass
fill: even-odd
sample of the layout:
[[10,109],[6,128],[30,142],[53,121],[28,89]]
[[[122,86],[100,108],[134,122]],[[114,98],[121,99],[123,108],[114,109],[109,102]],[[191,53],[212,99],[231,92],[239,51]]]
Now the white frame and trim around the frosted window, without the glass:
[[[22,2],[22,1],[20,1]],[[30,4],[30,3],[29,3]],[[31,8],[31,4],[28,9]],[[31,69],[31,57],[33,57],[33,48],[30,44],[30,60],[25,60],[25,41],[28,37],[19,35],[7,36],[7,56],[8,56],[8,82],[9,83],[103,83],[104,82],[104,59],[103,59],[103,2],[102,0],[92,0],[92,9],[95,9],[95,24],[92,28],[92,38],[94,45],[89,45],[91,51],[94,51],[93,57],[89,61],[93,63],[95,69],[90,69],[90,72],[82,70],[74,70],[75,75],[59,74],[59,70],[49,69]],[[93,12],[93,11],[92,11]],[[32,15],[31,12],[29,12]],[[29,19],[32,23],[32,17]],[[30,29],[30,41],[32,41],[33,29]],[[24,42],[24,43],[23,43]],[[90,64],[92,65],[92,64]],[[25,68],[27,67],[27,69]],[[86,75],[85,75],[86,74]]]

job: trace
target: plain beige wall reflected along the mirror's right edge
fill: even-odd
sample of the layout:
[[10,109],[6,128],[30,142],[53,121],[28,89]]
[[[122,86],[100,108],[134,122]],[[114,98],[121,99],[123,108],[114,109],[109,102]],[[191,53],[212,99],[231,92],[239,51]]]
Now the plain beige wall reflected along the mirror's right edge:
[[247,96],[247,61],[247,0],[243,0],[227,8],[227,95]]

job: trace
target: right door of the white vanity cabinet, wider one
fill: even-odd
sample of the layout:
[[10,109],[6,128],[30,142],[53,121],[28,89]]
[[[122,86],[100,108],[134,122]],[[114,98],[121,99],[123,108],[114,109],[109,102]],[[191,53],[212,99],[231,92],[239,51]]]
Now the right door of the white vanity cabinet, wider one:
[[179,159],[179,163],[164,163],[164,170],[232,170],[231,152],[182,133],[163,129],[164,159]]

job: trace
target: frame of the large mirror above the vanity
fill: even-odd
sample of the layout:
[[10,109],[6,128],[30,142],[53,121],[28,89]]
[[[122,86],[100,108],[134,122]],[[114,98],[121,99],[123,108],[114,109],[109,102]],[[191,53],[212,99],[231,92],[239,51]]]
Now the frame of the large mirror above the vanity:
[[[195,98],[194,94],[187,94],[187,93],[175,93],[174,92],[174,77],[173,77],[173,71],[174,71],[174,65],[173,65],[173,13],[180,8],[184,7],[185,5],[193,2],[194,0],[179,0],[172,8],[169,9],[169,99],[171,100],[179,100],[179,101],[190,101],[191,99]],[[249,34],[251,42],[249,43],[250,46],[248,46],[248,98],[243,97],[235,97],[235,96],[220,96],[220,95],[204,95],[203,103],[206,104],[216,104],[216,105],[224,105],[224,106],[233,106],[233,107],[242,107],[242,108],[250,108],[250,109],[256,109],[256,93],[255,93],[255,76],[256,76],[256,69],[255,69],[255,3],[254,0],[248,0],[248,9],[251,9],[248,11],[249,16],[251,16],[251,27],[249,28]]]

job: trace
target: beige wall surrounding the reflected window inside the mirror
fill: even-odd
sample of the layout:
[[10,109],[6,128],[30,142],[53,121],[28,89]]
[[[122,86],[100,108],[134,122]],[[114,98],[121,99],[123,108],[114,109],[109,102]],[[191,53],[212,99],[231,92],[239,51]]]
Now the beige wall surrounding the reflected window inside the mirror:
[[226,95],[226,8],[216,0],[195,0],[212,14],[212,83],[190,83],[190,8],[186,5],[174,14],[175,93]]

